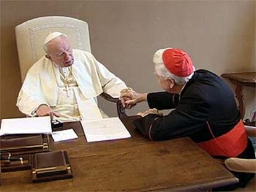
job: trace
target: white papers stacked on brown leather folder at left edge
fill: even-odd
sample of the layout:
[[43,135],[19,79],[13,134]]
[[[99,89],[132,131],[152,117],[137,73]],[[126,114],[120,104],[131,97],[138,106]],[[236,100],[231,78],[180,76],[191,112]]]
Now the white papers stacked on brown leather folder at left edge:
[[51,133],[51,119],[46,117],[23,117],[1,120],[1,135]]

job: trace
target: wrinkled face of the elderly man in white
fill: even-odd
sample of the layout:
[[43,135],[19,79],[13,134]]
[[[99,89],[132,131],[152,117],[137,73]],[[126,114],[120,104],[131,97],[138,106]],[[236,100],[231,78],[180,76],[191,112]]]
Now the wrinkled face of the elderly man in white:
[[72,48],[66,36],[58,36],[49,41],[46,57],[59,67],[69,67],[74,63]]

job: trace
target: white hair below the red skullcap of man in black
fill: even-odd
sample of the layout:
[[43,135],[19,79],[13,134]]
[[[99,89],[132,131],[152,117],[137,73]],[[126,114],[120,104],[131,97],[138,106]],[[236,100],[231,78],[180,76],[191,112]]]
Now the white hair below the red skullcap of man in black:
[[174,75],[173,73],[170,73],[168,69],[166,69],[165,65],[163,63],[154,63],[155,64],[155,70],[158,75],[165,79],[173,79],[175,83],[178,85],[183,85],[187,83],[190,78],[194,75],[195,67],[193,66],[193,72],[187,76],[187,77],[178,77],[177,75]]

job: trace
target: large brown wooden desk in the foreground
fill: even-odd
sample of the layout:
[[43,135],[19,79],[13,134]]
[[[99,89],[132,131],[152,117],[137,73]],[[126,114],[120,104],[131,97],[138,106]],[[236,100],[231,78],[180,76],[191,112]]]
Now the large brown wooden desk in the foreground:
[[122,118],[132,138],[87,143],[80,123],[66,123],[77,140],[55,143],[69,153],[74,178],[31,183],[30,170],[2,173],[4,191],[189,191],[236,183],[237,179],[189,138],[149,141]]

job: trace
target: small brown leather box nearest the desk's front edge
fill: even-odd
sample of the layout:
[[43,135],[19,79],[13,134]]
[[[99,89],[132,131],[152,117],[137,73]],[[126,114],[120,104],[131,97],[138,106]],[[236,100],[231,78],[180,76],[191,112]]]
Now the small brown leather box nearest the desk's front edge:
[[32,154],[32,182],[46,182],[72,178],[72,170],[66,151]]

